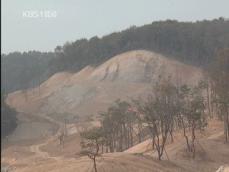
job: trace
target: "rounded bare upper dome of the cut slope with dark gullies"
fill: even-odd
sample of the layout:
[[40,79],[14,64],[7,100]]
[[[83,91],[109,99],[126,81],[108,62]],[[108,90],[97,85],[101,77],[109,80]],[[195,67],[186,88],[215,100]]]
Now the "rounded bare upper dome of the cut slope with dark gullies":
[[[193,83],[199,76],[194,67],[181,64],[150,51],[131,51],[115,56],[92,72],[98,81],[144,82],[156,81],[158,76],[171,76]],[[198,75],[198,76],[197,76]],[[182,81],[181,81],[182,82]]]

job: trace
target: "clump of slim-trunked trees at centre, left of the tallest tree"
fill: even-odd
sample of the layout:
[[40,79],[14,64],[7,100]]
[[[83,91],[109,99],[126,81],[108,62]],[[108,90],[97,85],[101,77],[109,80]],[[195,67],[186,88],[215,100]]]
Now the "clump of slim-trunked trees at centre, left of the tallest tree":
[[108,108],[107,112],[102,113],[101,122],[105,145],[110,152],[121,152],[134,144],[134,124],[136,116],[129,111],[130,104],[126,101],[116,100]]

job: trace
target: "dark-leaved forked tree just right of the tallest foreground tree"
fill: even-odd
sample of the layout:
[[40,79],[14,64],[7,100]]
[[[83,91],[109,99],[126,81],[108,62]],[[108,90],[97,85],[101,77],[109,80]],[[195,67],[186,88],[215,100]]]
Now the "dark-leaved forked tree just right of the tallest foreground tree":
[[[183,129],[187,150],[195,157],[196,130],[203,129],[207,125],[204,115],[204,98],[201,84],[194,88],[183,85],[179,90],[178,120]],[[189,132],[189,133],[188,133]]]

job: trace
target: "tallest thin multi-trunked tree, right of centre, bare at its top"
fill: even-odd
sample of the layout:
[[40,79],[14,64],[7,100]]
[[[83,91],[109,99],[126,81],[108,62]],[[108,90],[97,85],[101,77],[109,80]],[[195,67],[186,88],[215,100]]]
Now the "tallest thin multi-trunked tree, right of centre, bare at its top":
[[176,88],[170,78],[160,80],[154,87],[154,94],[148,97],[142,108],[159,160],[164,153],[168,134],[173,128],[176,114],[175,98]]

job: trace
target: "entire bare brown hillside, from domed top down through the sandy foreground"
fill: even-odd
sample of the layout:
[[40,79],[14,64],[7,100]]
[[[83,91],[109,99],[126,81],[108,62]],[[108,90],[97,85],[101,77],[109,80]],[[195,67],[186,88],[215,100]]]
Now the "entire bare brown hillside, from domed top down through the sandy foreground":
[[[159,78],[169,76],[174,84],[195,85],[203,73],[161,54],[135,50],[77,73],[57,73],[39,87],[9,94],[6,103],[19,112],[19,122],[4,144],[2,165],[18,172],[93,171],[92,162],[79,156],[82,128],[98,126],[96,116],[116,99],[144,98],[154,91],[153,85]],[[63,148],[58,138],[64,127],[68,135]],[[124,152],[99,157],[98,170],[213,172],[229,164],[222,122],[212,119],[204,132],[198,132],[195,160],[185,154],[181,135],[176,131],[175,142],[168,141],[166,145],[169,160],[164,155],[163,161],[158,161],[149,149],[150,140],[145,140]]]

